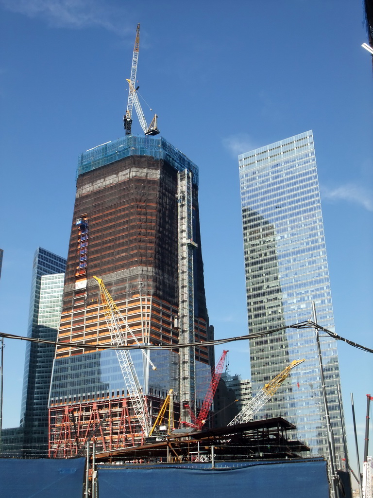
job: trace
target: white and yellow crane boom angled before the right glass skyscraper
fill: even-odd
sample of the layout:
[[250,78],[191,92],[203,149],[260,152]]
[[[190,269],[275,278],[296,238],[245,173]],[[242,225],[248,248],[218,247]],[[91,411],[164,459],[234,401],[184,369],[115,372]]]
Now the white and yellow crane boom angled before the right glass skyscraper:
[[229,422],[228,425],[236,425],[243,424],[245,422],[249,422],[253,419],[255,413],[259,411],[263,405],[267,403],[267,401],[275,394],[277,389],[280,387],[285,378],[288,377],[290,371],[303,363],[305,359],[302,360],[294,360],[290,363],[286,368],[282,370],[276,377],[268,382],[254,397],[251,399],[246,406],[242,408],[240,413],[234,417],[234,419]]

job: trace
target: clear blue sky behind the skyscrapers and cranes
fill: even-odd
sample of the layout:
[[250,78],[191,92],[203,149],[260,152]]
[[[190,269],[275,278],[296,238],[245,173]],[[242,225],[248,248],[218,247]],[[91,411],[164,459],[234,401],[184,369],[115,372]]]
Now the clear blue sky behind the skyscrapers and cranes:
[[[140,22],[140,94],[162,135],[199,166],[216,337],[247,333],[237,155],[312,129],[336,331],[373,347],[373,81],[360,0],[0,0],[0,10],[1,330],[26,333],[35,249],[67,254],[78,155],[124,134]],[[24,345],[5,344],[11,427]],[[248,345],[229,350],[231,373],[248,377]],[[338,350],[349,441],[353,392],[362,450],[372,355]]]

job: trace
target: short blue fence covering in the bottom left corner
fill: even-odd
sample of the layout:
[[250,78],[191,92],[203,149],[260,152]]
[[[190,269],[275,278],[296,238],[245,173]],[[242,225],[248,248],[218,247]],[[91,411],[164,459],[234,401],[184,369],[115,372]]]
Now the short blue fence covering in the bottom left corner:
[[0,498],[82,498],[85,458],[0,459]]

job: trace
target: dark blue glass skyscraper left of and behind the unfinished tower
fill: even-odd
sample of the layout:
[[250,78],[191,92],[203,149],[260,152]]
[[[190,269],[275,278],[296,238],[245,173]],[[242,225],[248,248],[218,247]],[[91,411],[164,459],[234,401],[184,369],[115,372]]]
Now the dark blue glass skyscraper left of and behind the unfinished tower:
[[[36,249],[28,337],[57,339],[65,268],[65,258],[46,249]],[[20,418],[25,456],[42,457],[48,453],[48,395],[54,350],[54,345],[26,344]]]

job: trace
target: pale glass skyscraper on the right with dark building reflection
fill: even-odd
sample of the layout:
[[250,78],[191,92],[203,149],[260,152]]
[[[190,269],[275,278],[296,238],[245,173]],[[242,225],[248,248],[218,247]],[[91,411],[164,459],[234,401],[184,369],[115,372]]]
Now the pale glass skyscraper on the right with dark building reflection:
[[[312,318],[334,331],[312,131],[239,156],[249,334]],[[335,340],[321,337],[337,466],[344,457]],[[292,360],[296,367],[258,413],[294,423],[312,456],[327,456],[327,429],[315,331],[285,329],[250,343],[253,396]]]

